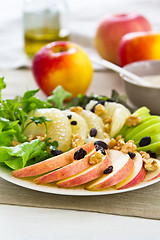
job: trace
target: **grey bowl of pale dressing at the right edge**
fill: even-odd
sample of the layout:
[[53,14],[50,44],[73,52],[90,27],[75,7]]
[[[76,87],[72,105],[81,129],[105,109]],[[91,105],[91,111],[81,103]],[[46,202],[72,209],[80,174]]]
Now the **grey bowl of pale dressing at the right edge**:
[[[160,75],[160,60],[138,61],[125,65],[126,70],[139,77]],[[152,114],[160,115],[160,87],[142,86],[122,77],[128,99],[136,106],[146,106]]]

